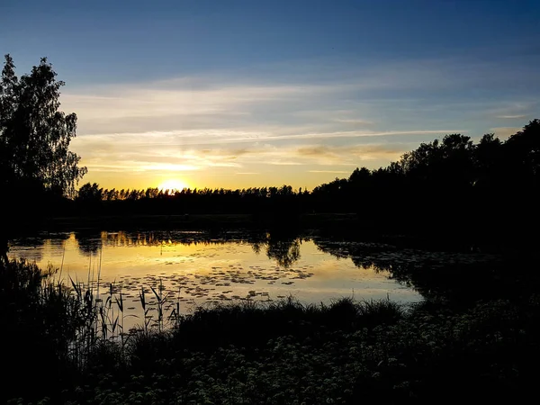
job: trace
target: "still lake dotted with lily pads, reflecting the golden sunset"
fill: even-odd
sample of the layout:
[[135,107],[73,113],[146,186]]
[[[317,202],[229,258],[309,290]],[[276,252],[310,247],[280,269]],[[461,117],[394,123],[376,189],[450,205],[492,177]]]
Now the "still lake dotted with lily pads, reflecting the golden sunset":
[[[404,270],[490,263],[480,253],[445,253],[324,238],[316,234],[204,231],[85,231],[43,233],[11,242],[9,257],[58,269],[57,279],[122,293],[132,326],[141,319],[139,292],[166,295],[166,311],[239,300],[301,302],[340,297],[419,302]],[[405,272],[406,273],[406,272]],[[152,309],[155,311],[155,308]],[[135,317],[136,316],[136,317]]]

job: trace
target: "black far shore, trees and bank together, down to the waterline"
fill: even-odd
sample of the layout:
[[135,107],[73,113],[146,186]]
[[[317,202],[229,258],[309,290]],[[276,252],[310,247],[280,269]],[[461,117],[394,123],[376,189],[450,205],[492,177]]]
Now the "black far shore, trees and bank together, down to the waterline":
[[[506,141],[447,135],[390,166],[357,168],[312,191],[107,190],[84,184],[75,199],[14,183],[4,233],[18,229],[330,229],[339,232],[463,238],[477,246],[534,249],[539,239],[540,121]],[[7,195],[7,194],[6,194]],[[39,202],[39,203],[37,203]]]

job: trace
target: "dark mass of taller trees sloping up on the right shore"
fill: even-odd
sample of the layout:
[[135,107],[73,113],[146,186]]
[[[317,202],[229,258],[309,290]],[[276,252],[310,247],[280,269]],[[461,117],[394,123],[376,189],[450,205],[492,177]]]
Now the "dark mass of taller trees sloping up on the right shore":
[[311,193],[315,211],[355,211],[409,229],[484,232],[538,224],[540,121],[501,141],[446,135],[390,166],[356,169]]

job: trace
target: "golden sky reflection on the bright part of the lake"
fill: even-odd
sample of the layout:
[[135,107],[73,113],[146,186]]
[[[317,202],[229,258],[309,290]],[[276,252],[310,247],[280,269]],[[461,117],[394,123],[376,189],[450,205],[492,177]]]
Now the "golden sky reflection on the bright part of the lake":
[[[225,293],[253,297],[253,287],[246,291],[238,287],[248,284],[264,284],[274,290],[274,297],[294,293],[315,302],[363,289],[366,297],[388,292],[407,296],[405,301],[418,297],[388,275],[372,270],[358,273],[351,262],[321,256],[311,238],[293,232],[78,231],[15,240],[10,255],[35,260],[40,266],[49,262],[63,266],[65,274],[79,279],[103,270],[103,277],[130,286],[176,277],[171,282],[184,289],[184,298],[213,299]],[[231,286],[239,293],[222,288]]]

